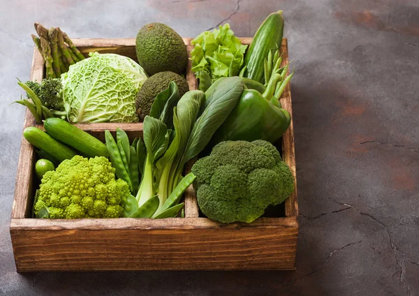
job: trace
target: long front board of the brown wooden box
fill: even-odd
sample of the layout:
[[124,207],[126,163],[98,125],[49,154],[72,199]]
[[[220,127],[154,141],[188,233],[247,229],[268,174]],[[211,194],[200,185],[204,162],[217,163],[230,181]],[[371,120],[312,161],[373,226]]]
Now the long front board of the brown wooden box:
[[294,269],[297,224],[286,220],[13,219],[10,228],[18,272]]

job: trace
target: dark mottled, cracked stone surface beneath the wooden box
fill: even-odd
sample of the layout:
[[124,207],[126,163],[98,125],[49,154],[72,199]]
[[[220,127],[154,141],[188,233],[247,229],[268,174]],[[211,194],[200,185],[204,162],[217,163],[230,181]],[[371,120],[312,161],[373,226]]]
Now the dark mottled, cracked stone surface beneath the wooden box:
[[[105,4],[106,3],[106,4]],[[300,236],[295,272],[17,274],[8,232],[33,23],[71,37],[133,37],[165,22],[251,36],[284,10]],[[419,295],[419,3],[1,1],[1,295]]]

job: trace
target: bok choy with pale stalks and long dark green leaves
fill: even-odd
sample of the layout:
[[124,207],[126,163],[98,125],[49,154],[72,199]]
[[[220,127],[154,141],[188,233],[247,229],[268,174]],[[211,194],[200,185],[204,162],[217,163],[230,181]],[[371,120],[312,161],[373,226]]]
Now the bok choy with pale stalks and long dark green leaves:
[[243,88],[240,77],[227,78],[205,101],[202,91],[188,91],[179,98],[177,86],[171,82],[168,91],[156,97],[150,115],[144,119],[147,156],[135,196],[139,208],[157,195],[159,207],[154,215],[159,215],[167,210],[167,202],[174,198],[172,193],[184,191],[193,181],[193,177],[182,179],[184,164],[210,142]]

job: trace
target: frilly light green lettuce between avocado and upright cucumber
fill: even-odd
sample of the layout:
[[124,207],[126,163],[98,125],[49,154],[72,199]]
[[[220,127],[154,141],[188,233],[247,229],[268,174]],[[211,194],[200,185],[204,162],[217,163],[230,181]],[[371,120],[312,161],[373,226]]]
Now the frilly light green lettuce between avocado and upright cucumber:
[[214,31],[205,31],[191,42],[192,71],[205,71],[212,82],[221,77],[237,76],[243,64],[247,45],[234,36],[229,24]]

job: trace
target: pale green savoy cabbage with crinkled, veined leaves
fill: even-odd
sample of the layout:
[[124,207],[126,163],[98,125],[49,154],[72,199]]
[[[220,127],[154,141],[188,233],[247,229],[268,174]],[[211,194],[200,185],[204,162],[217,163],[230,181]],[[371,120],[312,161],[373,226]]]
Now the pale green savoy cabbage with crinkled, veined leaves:
[[[94,54],[88,59],[70,66],[61,75],[61,96],[70,106],[68,119],[73,123],[83,122],[136,122],[135,98],[138,93],[135,82],[121,70],[125,61],[113,54],[111,62],[107,54]],[[118,64],[119,68],[114,68]],[[131,71],[133,67],[126,68]]]

